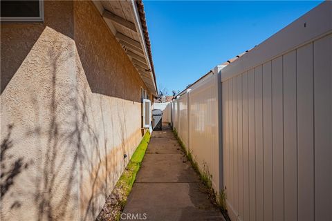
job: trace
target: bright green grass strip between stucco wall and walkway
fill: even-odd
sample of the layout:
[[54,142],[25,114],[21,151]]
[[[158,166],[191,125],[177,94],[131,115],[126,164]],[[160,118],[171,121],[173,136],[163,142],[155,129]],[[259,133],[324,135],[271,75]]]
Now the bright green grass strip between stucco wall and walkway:
[[111,195],[107,198],[106,203],[98,215],[96,220],[120,220],[120,215],[127,204],[127,198],[133,187],[133,183],[136,180],[136,175],[140,170],[145,151],[147,151],[147,145],[150,140],[150,133],[147,131],[140,144],[138,144],[136,151],[131,156],[126,169],[124,169],[121,177],[119,178],[116,186],[114,187]]

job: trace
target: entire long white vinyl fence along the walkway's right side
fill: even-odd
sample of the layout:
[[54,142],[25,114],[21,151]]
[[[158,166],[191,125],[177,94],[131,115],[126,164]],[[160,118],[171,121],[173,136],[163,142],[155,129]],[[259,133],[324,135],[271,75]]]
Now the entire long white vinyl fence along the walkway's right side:
[[332,220],[331,14],[320,4],[171,104],[231,220]]

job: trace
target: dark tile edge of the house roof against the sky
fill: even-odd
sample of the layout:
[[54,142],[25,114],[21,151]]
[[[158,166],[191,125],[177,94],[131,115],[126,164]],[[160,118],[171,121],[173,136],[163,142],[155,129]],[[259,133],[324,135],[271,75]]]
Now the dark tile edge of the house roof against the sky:
[[142,0],[135,0],[135,1],[136,1],[136,6],[138,8],[138,13],[140,15],[140,23],[142,25],[142,31],[143,31],[143,35],[144,35],[144,38],[145,38],[145,45],[147,46],[147,53],[148,53],[148,56],[149,56],[152,73],[154,75],[154,84],[156,86],[156,93],[158,95],[156,74],[154,73],[154,61],[152,61],[151,43],[150,43],[150,39],[149,39],[149,32],[147,32],[147,21],[145,19],[144,5],[143,5]]

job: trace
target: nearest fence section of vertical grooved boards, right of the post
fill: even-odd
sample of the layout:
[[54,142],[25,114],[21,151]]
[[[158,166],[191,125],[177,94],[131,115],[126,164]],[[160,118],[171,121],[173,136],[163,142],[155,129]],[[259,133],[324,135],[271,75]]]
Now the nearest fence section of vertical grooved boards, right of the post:
[[307,22],[315,32],[324,26],[308,18],[243,55],[248,64],[243,59],[237,66],[248,68],[221,70],[228,76],[221,77],[223,151],[234,218],[331,220],[332,35],[318,32],[313,40],[268,55],[270,46],[282,48],[280,39],[306,34],[294,32],[298,23]]

